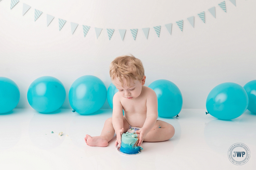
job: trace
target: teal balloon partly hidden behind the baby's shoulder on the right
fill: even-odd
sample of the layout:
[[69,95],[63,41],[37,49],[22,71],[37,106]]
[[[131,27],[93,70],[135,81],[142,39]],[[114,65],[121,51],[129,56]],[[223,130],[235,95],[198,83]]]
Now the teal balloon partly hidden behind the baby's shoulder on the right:
[[169,80],[156,80],[148,87],[156,92],[158,116],[173,117],[180,113],[182,108],[182,94],[180,89]]

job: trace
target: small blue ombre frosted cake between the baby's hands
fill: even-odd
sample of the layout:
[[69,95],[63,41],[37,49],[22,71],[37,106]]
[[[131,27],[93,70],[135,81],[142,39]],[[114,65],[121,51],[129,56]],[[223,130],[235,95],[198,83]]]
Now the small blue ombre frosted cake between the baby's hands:
[[120,151],[128,154],[137,154],[143,150],[142,147],[137,145],[138,142],[138,135],[135,132],[123,133]]

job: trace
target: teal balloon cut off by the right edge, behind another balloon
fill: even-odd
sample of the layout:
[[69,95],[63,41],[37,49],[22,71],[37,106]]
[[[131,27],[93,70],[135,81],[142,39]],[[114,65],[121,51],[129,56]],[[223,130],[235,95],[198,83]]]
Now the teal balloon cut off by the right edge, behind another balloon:
[[244,85],[244,89],[248,95],[249,105],[247,109],[252,113],[256,113],[256,80],[252,80]]

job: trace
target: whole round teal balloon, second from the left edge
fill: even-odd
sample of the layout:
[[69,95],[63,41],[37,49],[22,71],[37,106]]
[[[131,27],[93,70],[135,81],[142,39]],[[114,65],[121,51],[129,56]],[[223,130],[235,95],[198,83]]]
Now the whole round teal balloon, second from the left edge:
[[64,85],[57,78],[43,76],[28,87],[28,103],[40,113],[51,113],[59,109],[65,101]]

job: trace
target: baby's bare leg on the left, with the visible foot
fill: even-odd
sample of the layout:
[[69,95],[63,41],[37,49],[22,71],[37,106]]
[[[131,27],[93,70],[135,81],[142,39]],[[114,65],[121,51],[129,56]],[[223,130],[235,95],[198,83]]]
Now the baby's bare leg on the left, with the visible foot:
[[[124,118],[124,131],[128,130],[129,123]],[[125,132],[126,132],[125,131]],[[108,146],[108,142],[114,137],[115,129],[112,124],[112,117],[108,118],[103,126],[100,136],[91,137],[90,135],[86,135],[84,138],[85,142],[89,146],[101,146],[105,147]]]

